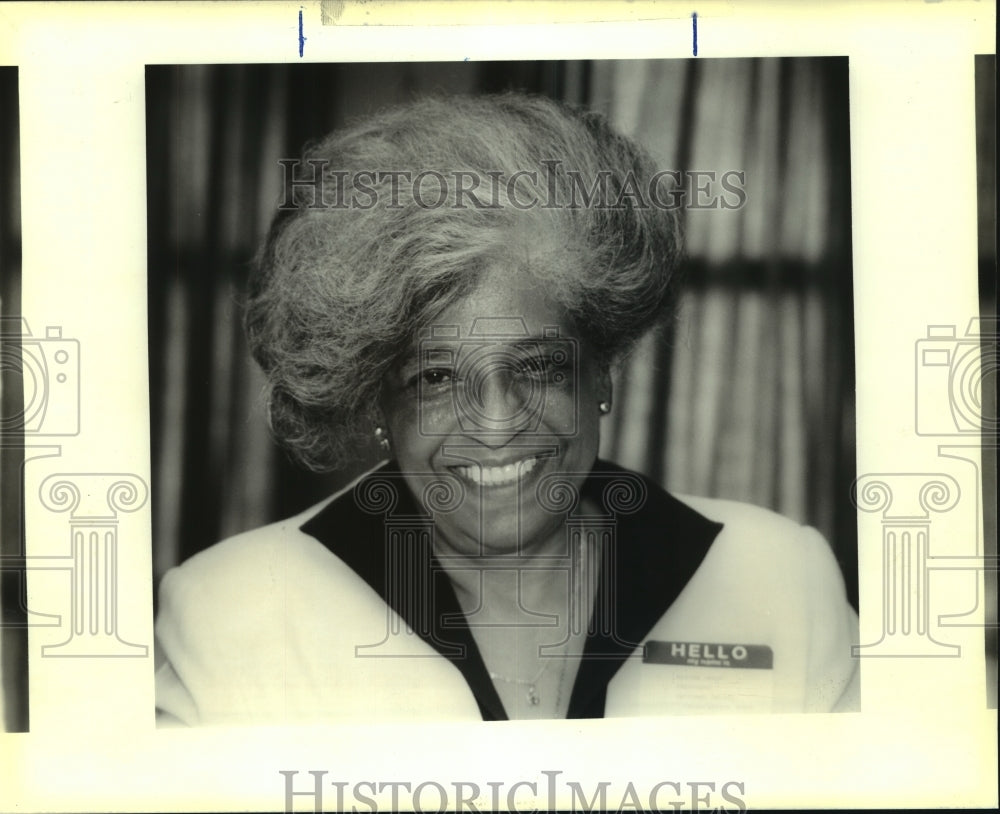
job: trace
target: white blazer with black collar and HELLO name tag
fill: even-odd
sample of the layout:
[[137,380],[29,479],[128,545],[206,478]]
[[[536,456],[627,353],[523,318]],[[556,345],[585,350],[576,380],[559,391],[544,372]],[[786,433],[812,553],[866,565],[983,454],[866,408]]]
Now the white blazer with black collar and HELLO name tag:
[[[156,622],[161,722],[506,717],[468,629],[436,616],[460,615],[446,578],[412,573],[395,594],[385,585],[393,523],[359,508],[354,487],[393,474],[383,466],[168,572]],[[614,588],[597,600],[614,608],[593,617],[614,621],[592,625],[569,717],[857,707],[857,615],[817,531],[745,504],[678,499],[603,462],[584,488],[602,478],[641,481],[646,494],[617,518],[614,565],[601,573]],[[407,562],[434,571],[432,558]],[[427,585],[438,586],[430,601],[419,595]]]

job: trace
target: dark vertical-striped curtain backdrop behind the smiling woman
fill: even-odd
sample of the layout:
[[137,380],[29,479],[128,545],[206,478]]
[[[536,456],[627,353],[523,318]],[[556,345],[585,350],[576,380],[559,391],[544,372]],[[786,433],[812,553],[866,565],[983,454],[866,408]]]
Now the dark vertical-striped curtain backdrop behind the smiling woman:
[[831,541],[857,601],[846,58],[147,68],[154,578],[298,511],[317,476],[269,440],[240,298],[278,160],[445,91],[591,105],[664,169],[745,173],[741,209],[684,212],[678,319],[616,377],[602,455],[668,489],[776,509]]

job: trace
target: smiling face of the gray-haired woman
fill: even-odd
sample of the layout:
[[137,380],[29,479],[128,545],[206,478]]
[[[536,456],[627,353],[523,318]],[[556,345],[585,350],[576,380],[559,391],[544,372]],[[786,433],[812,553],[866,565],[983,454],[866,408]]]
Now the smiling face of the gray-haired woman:
[[536,488],[553,475],[582,484],[597,457],[598,404],[611,397],[566,312],[506,271],[421,332],[381,402],[417,500],[435,481],[461,483],[457,508],[434,516],[440,542],[467,555],[561,545],[565,513]]

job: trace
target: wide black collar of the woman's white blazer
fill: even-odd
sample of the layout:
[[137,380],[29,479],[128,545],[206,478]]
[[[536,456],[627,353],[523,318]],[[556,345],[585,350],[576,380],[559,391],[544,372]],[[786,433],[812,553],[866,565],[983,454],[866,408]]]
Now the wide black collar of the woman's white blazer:
[[[584,496],[600,504],[603,493],[607,504],[605,487],[616,476],[619,482],[624,477],[641,483],[645,499],[638,511],[614,517],[617,551],[605,548],[568,718],[604,716],[608,683],[673,604],[722,530],[648,478],[604,461],[594,465]],[[380,484],[397,486],[389,495]],[[393,499],[386,502],[387,497]],[[302,531],[353,569],[461,671],[483,720],[506,720],[451,580],[431,551],[432,526],[390,463],[308,520]]]

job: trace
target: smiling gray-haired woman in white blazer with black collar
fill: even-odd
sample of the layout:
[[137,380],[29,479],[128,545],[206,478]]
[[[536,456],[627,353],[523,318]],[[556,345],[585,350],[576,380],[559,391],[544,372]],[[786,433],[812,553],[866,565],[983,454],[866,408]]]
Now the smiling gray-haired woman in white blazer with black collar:
[[387,460],[164,578],[162,718],[850,708],[857,619],[815,531],[597,460],[611,370],[673,304],[669,177],[520,95],[304,159],[247,306],[272,430],[316,469],[358,438]]

